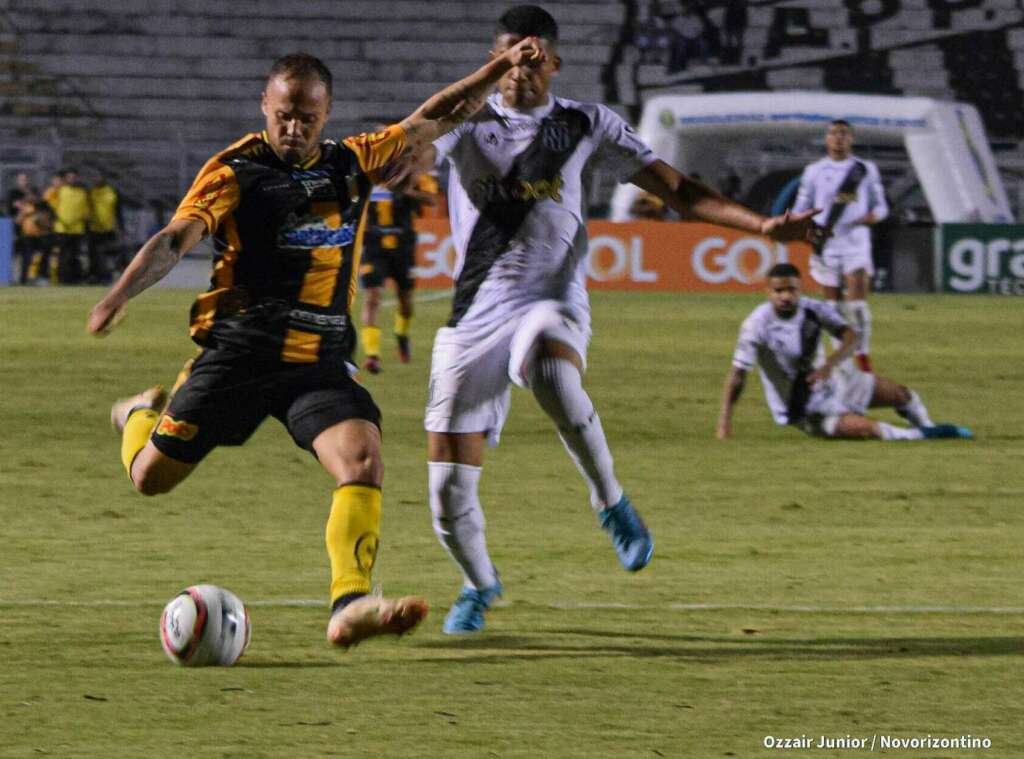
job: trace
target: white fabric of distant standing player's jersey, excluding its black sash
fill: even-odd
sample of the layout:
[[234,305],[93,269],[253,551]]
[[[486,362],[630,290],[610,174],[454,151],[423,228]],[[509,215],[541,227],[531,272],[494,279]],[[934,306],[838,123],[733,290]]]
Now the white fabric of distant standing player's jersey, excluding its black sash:
[[[864,166],[864,177],[857,184],[855,193],[839,199],[843,180],[857,162]],[[804,169],[800,177],[800,189],[797,191],[797,201],[793,210],[800,212],[809,208],[820,208],[821,213],[815,215],[814,221],[823,226],[827,223],[829,211],[837,200],[847,205],[836,220],[833,236],[825,245],[858,249],[869,247],[870,229],[863,224],[853,225],[853,222],[863,218],[868,212],[873,213],[879,220],[889,215],[889,204],[882,187],[879,167],[870,161],[854,156],[844,161],[833,161],[828,157],[815,161]]]

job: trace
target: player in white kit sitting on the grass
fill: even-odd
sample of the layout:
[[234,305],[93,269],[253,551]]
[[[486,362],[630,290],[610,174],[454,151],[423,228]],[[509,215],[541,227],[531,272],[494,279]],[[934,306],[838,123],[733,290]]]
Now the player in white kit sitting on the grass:
[[[821,332],[842,340],[824,357]],[[845,360],[857,334],[835,305],[801,297],[800,269],[778,263],[768,272],[768,302],[743,322],[732,356],[732,370],[722,389],[718,436],[732,435],[732,409],[746,373],[755,364],[772,417],[778,424],[800,427],[823,437],[922,440],[972,437],[967,427],[936,425],[913,390],[867,374]],[[892,408],[912,426],[900,427],[868,419],[867,409]]]

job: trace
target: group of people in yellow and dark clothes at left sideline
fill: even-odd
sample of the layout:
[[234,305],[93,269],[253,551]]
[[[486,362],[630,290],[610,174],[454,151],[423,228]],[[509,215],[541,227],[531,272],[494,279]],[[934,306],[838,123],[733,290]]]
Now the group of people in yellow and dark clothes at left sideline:
[[121,198],[102,171],[90,184],[66,168],[39,189],[22,172],[3,213],[14,219],[22,285],[104,285],[127,264]]

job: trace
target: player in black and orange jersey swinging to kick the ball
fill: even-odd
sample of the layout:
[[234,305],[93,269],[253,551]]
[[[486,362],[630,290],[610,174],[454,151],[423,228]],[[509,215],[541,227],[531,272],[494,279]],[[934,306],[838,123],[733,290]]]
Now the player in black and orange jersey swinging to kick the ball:
[[304,53],[279,59],[262,96],[266,128],[203,167],[171,222],[89,314],[90,332],[105,334],[129,299],[213,238],[210,288],[191,309],[202,352],[166,411],[159,386],[114,405],[122,462],[140,493],[167,493],[213,448],[241,445],[267,416],[282,421],[337,483],[326,538],[328,638],[336,645],[401,634],[427,613],[421,598],[370,595],[381,513],[380,412],[347,371],[370,188],[404,150],[472,115],[509,69],[543,59],[537,40],[524,40],[400,124],[341,142],[321,140],[331,72]]

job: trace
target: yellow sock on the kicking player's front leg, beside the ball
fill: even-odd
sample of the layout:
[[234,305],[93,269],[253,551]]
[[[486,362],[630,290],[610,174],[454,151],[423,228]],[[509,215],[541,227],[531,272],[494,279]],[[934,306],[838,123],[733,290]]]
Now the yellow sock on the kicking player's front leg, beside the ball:
[[380,542],[381,490],[343,484],[334,492],[327,520],[331,557],[331,602],[349,593],[369,593]]

